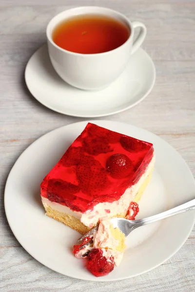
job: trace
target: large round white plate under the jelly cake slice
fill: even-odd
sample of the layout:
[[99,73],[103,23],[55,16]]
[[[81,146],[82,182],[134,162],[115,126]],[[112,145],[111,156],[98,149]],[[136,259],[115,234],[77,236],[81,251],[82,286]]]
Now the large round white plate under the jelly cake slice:
[[[131,125],[93,121],[99,126],[152,142],[156,166],[152,182],[140,201],[139,218],[192,200],[195,181],[187,164],[161,138]],[[43,265],[71,277],[113,281],[145,273],[173,256],[188,238],[195,212],[186,212],[135,230],[127,238],[127,249],[119,267],[107,276],[95,277],[83,261],[71,253],[78,232],[44,216],[39,184],[58,162],[87,122],[58,128],[29,146],[13,166],[5,187],[5,211],[9,225],[24,249]]]

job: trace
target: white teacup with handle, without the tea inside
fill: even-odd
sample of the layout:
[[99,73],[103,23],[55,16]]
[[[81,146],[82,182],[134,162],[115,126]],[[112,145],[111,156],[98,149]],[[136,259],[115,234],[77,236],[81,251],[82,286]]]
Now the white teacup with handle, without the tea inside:
[[[99,54],[79,54],[60,48],[52,39],[56,26],[63,20],[76,15],[99,14],[116,18],[131,31],[127,41],[112,51]],[[134,40],[134,31],[140,32]],[[131,22],[123,14],[104,7],[78,7],[65,10],[52,18],[47,26],[47,43],[52,65],[59,76],[70,85],[83,90],[100,90],[107,87],[123,72],[132,54],[146,37],[146,27],[138,21]]]

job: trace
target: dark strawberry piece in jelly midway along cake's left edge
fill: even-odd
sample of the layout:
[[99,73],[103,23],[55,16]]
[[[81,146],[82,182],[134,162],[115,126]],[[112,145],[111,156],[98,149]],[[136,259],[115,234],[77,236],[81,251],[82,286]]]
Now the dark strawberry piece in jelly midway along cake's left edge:
[[77,165],[79,163],[79,160],[81,156],[83,155],[83,151],[81,147],[73,147],[70,146],[68,150],[65,152],[65,154],[60,159],[60,163],[63,166],[72,166]]

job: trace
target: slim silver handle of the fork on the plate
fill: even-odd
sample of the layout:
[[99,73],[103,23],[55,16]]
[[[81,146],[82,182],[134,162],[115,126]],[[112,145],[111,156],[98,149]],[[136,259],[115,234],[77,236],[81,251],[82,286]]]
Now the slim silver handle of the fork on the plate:
[[164,218],[167,218],[167,217],[179,214],[179,213],[190,211],[190,210],[195,210],[195,199],[192,201],[189,201],[187,203],[184,203],[182,205],[179,205],[175,208],[172,208],[170,210],[167,210],[165,212],[159,213],[157,215],[154,215],[154,216],[151,216],[148,218],[144,218],[144,219],[135,220],[134,221],[135,222],[134,229],[139,227],[139,226],[143,226],[143,225],[146,225],[146,224],[149,224],[149,223],[152,223],[152,222],[155,222],[155,221],[158,221],[158,220],[161,220],[161,219],[164,219]]

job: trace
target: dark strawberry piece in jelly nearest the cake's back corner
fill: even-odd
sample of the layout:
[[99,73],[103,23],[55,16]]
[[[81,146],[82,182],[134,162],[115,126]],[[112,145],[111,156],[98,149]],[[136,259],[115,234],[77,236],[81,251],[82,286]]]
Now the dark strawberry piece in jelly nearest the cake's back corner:
[[113,151],[105,137],[85,137],[83,139],[83,150],[91,155],[98,155]]

